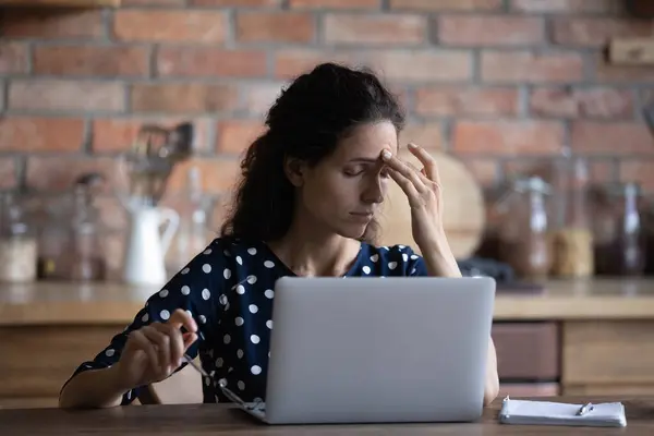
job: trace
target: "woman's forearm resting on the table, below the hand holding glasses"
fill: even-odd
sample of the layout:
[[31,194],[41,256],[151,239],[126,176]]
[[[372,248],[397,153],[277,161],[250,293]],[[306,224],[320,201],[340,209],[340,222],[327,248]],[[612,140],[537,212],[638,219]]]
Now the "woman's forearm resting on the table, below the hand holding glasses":
[[75,375],[61,391],[59,407],[63,409],[95,409],[120,405],[130,388],[121,387],[117,367],[85,371]]

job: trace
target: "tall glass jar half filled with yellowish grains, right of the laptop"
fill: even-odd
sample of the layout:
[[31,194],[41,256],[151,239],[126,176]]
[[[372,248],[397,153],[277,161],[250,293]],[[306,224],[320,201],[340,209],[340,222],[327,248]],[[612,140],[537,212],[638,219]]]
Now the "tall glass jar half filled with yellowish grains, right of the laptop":
[[593,229],[589,213],[589,169],[582,157],[557,162],[556,222],[553,231],[552,274],[588,278],[594,274]]

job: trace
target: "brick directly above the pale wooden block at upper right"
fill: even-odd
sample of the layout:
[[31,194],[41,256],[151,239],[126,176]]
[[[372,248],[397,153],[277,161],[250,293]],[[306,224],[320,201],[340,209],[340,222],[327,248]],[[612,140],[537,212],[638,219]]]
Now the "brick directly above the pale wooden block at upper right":
[[604,47],[611,38],[652,35],[652,22],[605,17],[557,19],[553,39],[556,44]]

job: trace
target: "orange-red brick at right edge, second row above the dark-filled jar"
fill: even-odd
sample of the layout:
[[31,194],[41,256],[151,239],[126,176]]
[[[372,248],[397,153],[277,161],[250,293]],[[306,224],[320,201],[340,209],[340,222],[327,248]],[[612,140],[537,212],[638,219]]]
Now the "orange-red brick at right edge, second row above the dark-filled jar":
[[577,121],[571,144],[574,152],[585,154],[654,155],[654,141],[644,123]]

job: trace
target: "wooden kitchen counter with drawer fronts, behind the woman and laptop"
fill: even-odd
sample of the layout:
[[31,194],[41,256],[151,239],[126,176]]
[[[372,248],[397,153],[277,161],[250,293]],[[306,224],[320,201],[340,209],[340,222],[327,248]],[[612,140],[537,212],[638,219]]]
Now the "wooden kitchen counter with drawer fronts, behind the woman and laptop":
[[[56,405],[75,367],[100,352],[158,290],[0,284],[0,409]],[[654,278],[500,288],[492,335],[502,395],[654,396]],[[198,392],[196,384],[183,385],[189,396]]]

